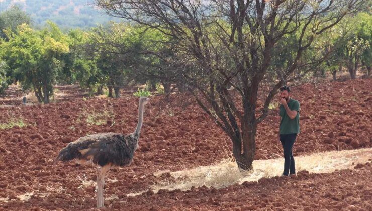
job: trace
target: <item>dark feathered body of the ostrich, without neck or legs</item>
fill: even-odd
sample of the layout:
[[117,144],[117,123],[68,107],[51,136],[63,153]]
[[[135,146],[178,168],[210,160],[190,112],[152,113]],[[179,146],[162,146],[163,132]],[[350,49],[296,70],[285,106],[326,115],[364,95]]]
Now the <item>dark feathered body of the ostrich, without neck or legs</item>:
[[131,163],[134,152],[129,137],[117,133],[84,136],[63,148],[56,161],[77,159],[85,164],[125,166]]

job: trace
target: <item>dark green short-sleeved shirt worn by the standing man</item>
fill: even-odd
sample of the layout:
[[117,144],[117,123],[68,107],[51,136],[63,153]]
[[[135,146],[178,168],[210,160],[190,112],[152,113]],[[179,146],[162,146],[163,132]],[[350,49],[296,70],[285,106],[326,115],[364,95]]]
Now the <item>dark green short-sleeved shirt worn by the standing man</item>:
[[291,111],[297,111],[297,115],[294,119],[291,119],[284,106],[281,105],[279,107],[279,115],[282,117],[279,134],[300,133],[300,103],[297,100],[290,99],[290,102],[287,104]]

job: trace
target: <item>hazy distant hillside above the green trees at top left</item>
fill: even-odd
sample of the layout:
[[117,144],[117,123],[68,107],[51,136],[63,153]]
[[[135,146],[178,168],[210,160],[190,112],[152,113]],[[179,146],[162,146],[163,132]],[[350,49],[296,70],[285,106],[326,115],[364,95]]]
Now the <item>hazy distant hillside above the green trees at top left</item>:
[[44,25],[47,20],[51,20],[61,28],[89,28],[114,20],[92,6],[92,2],[93,0],[0,0],[0,11],[16,4],[31,16],[35,25]]

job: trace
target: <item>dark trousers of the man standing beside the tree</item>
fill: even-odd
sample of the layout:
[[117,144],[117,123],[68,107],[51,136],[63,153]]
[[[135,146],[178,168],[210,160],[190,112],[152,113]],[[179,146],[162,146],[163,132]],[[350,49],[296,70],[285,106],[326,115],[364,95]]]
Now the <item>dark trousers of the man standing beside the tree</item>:
[[293,134],[281,134],[280,140],[283,146],[284,152],[284,171],[283,174],[288,176],[289,173],[295,174],[295,159],[293,158],[292,147],[296,141],[297,133]]

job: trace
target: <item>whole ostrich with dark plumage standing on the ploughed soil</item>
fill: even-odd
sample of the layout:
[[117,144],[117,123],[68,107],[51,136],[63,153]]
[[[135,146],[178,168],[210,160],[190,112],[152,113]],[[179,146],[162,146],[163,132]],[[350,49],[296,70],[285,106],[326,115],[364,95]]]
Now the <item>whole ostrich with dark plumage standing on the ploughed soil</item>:
[[138,147],[138,138],[143,120],[143,109],[150,99],[139,99],[138,124],[133,133],[100,133],[80,137],[61,149],[55,159],[58,161],[70,161],[82,165],[98,166],[100,174],[97,177],[97,208],[105,207],[104,185],[105,175],[110,168],[127,166],[133,160],[134,151]]

